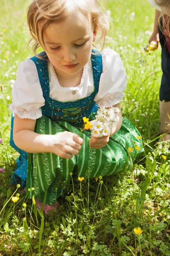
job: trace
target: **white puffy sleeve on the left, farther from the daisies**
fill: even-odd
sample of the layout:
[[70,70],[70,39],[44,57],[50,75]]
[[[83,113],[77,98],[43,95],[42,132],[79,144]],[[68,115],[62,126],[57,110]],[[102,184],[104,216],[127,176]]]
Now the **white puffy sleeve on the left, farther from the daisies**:
[[9,109],[20,118],[38,119],[45,105],[37,68],[33,61],[26,60],[18,65],[17,78],[12,87],[12,103]]

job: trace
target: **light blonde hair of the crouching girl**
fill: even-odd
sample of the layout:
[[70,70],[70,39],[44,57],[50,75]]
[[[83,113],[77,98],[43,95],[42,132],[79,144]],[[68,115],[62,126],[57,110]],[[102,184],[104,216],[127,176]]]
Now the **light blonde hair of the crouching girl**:
[[[64,20],[71,12],[77,10],[91,13],[92,23],[94,27],[98,27],[100,33],[96,45],[102,41],[102,45],[99,47],[102,49],[105,47],[111,17],[107,14],[101,1],[99,4],[98,0],[33,0],[28,6],[27,23],[34,40],[32,49],[35,55],[37,55],[36,50],[40,46],[46,50],[43,38],[45,28],[53,22]],[[97,46],[95,47],[97,48]]]

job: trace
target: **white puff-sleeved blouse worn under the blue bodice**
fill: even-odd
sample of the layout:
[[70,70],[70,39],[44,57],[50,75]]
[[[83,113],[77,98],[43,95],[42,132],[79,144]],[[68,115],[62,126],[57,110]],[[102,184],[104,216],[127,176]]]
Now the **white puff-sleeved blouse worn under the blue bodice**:
[[[123,99],[126,88],[126,73],[119,54],[112,49],[102,52],[103,70],[99,81],[99,91],[94,101],[99,107],[109,108]],[[48,62],[50,97],[62,101],[74,101],[90,95],[94,91],[91,59],[83,69],[82,79],[77,87],[62,87],[54,67]],[[33,61],[26,60],[18,65],[17,78],[12,87],[12,103],[9,106],[20,118],[37,119],[42,116],[45,105],[37,68]]]

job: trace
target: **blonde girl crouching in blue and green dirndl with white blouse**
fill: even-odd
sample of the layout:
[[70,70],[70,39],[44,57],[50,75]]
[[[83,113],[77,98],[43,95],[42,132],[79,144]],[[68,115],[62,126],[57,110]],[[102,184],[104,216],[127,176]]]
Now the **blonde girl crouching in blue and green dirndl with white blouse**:
[[95,104],[120,109],[126,87],[119,55],[92,49],[97,31],[103,47],[108,33],[108,17],[97,0],[34,0],[28,26],[34,52],[39,46],[44,52],[19,64],[12,88],[11,145],[20,153],[12,177],[40,207],[47,193],[47,213],[72,172],[84,178],[122,172],[142,151],[142,141],[128,119],[122,122],[121,111],[110,135],[79,136],[82,118],[95,119]]

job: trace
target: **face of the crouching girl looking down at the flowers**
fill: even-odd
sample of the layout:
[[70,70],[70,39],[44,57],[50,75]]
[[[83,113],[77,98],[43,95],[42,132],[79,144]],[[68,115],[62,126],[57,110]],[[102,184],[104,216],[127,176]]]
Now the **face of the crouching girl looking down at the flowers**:
[[70,14],[64,21],[54,22],[45,29],[46,53],[59,75],[82,71],[90,59],[96,32],[91,16],[82,12]]

